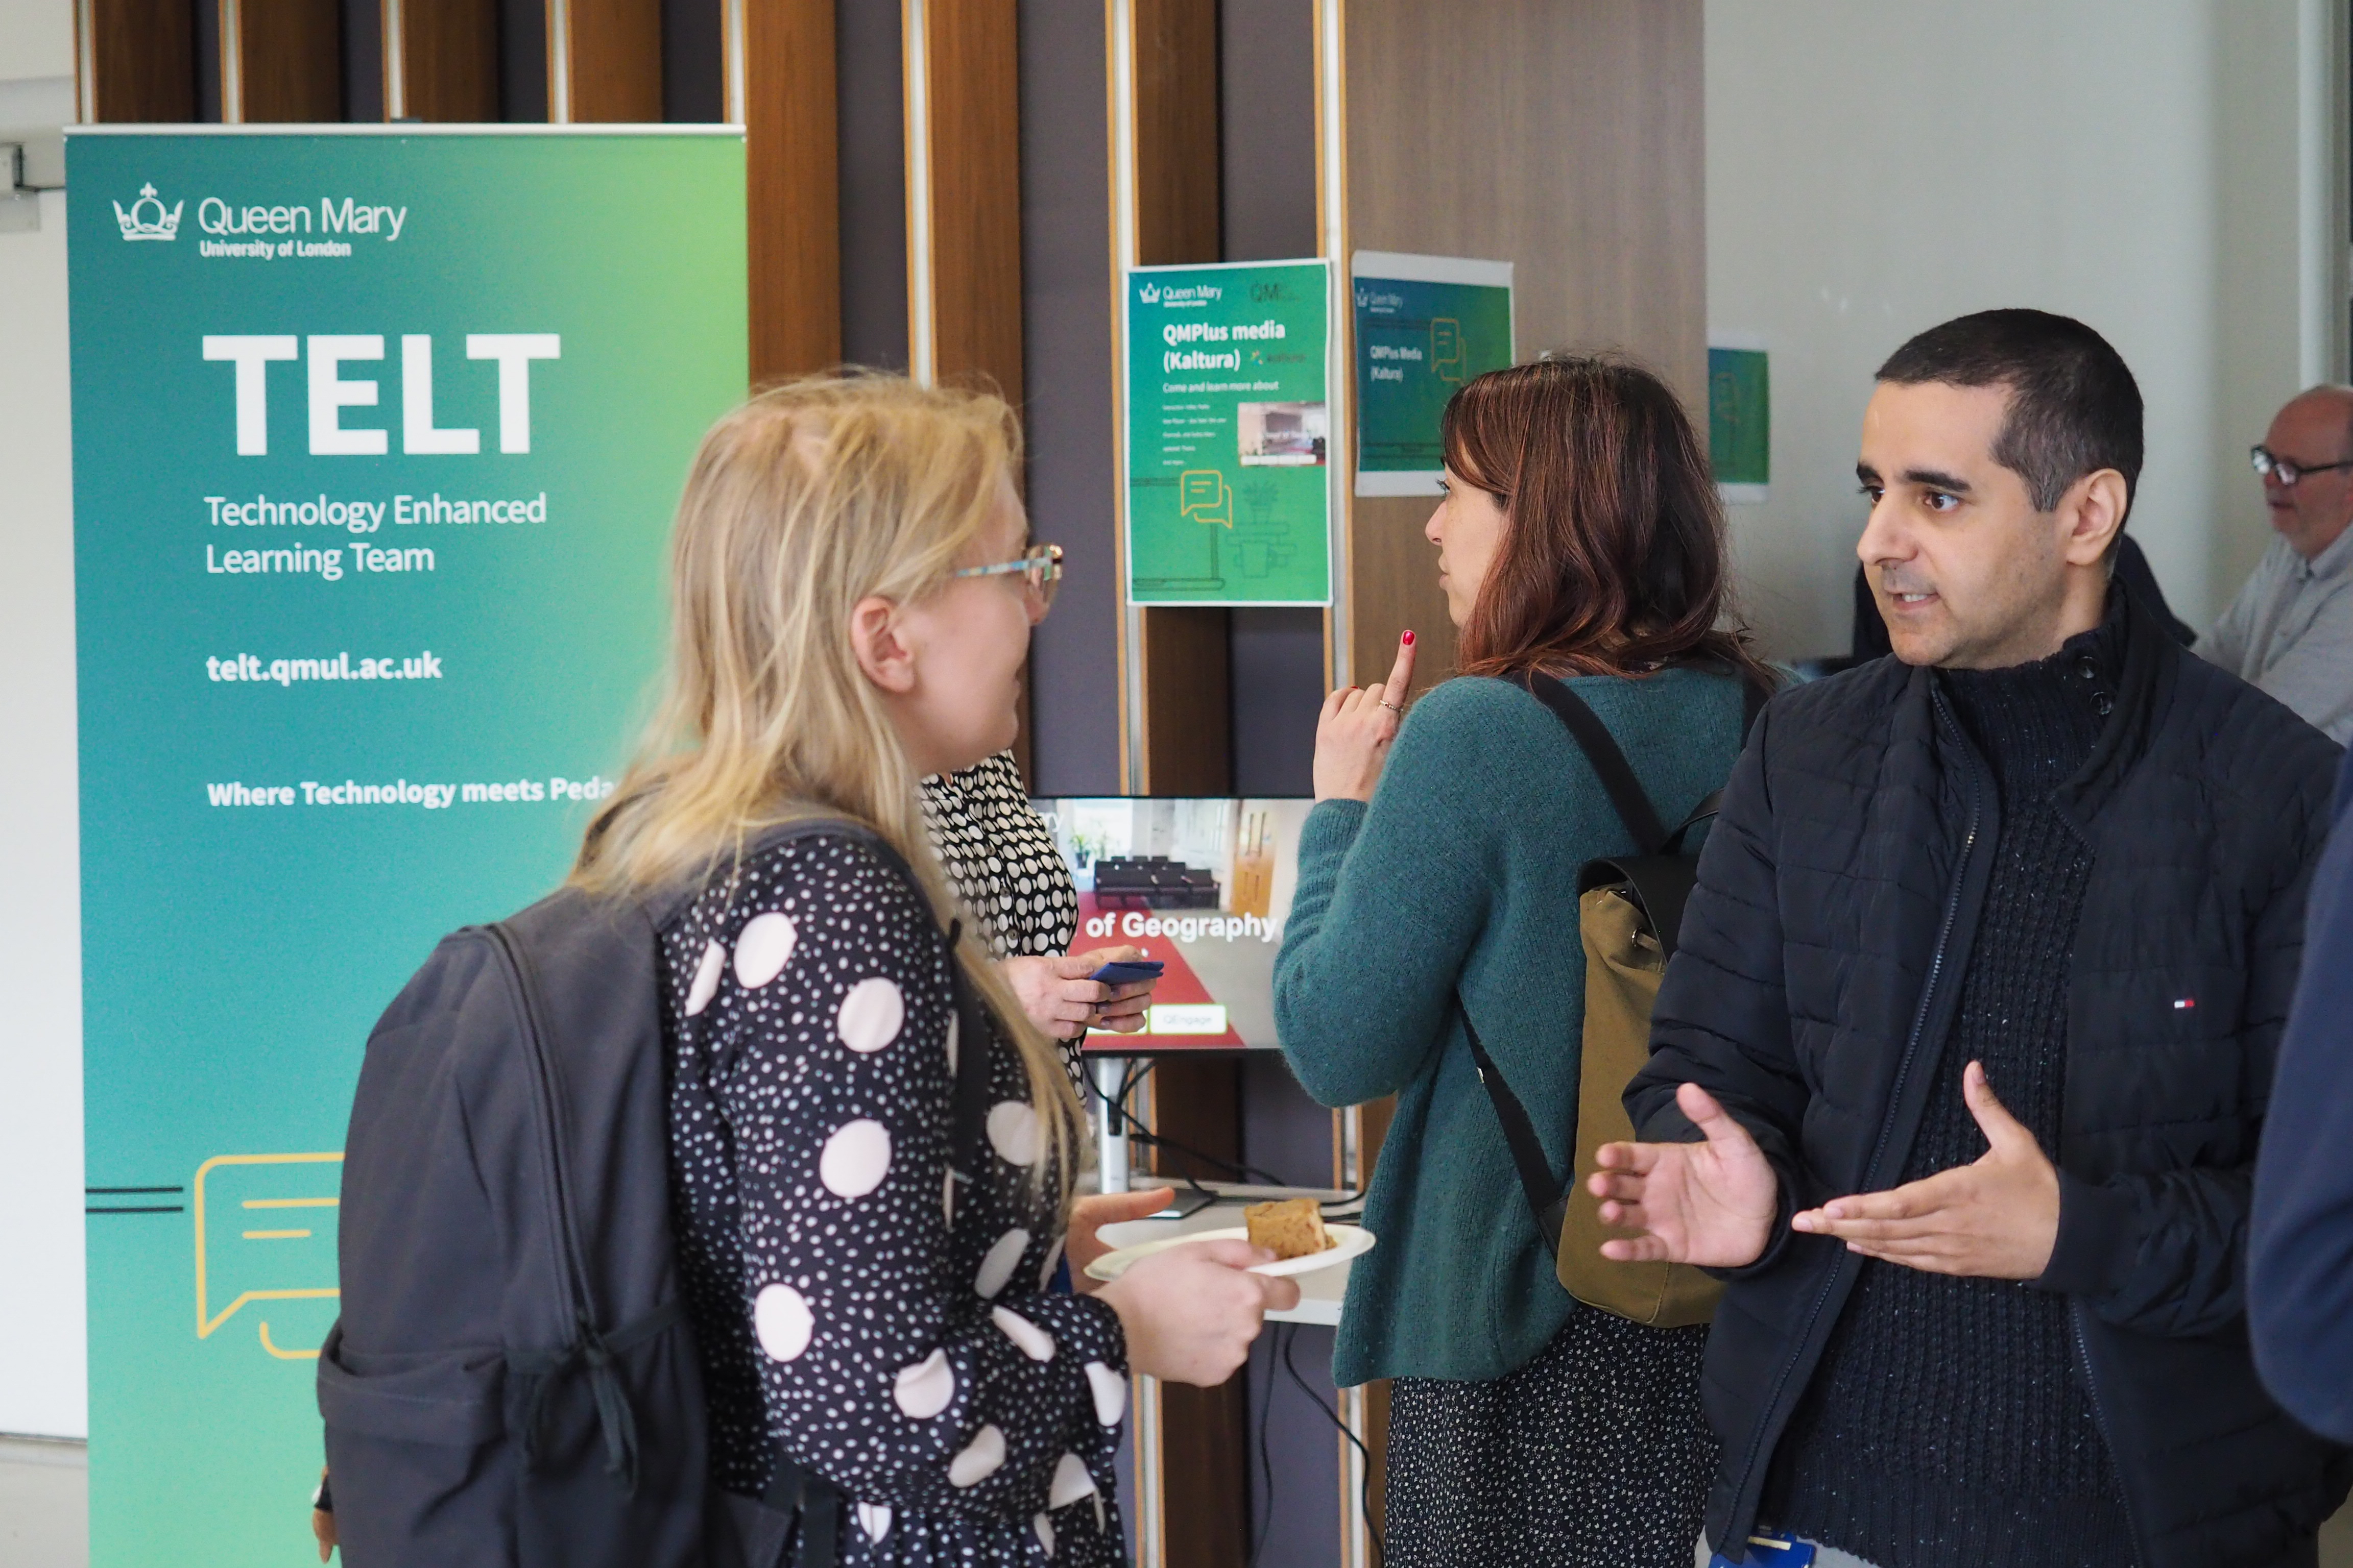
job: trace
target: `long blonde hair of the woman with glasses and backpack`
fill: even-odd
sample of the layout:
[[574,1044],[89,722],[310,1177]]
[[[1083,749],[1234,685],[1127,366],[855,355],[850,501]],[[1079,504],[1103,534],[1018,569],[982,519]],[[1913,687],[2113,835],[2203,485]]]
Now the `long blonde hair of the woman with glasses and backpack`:
[[1002,400],[847,371],[762,390],[694,454],[671,541],[671,668],[621,788],[588,823],[572,882],[642,893],[732,875],[762,827],[845,816],[896,849],[1012,1037],[1068,1192],[1080,1107],[1059,1048],[1021,1013],[955,907],[918,778],[849,646],[859,599],[948,583],[1019,463]]

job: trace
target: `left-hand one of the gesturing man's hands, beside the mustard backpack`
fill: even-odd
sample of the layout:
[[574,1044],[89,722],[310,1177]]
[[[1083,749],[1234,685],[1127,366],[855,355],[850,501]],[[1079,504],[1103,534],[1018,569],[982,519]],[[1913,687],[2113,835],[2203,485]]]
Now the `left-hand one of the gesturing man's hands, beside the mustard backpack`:
[[1706,1143],[1605,1143],[1586,1190],[1602,1199],[1602,1225],[1642,1232],[1602,1241],[1612,1262],[1697,1262],[1737,1269],[1772,1239],[1779,1178],[1755,1138],[1699,1084],[1675,1105]]

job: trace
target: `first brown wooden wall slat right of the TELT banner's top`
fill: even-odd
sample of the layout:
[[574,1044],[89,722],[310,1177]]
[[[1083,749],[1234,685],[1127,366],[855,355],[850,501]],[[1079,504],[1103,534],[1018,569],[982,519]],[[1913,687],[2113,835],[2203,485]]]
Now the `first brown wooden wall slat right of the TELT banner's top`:
[[[805,376],[842,357],[842,205],[833,0],[744,9],[741,82],[751,242],[751,378]],[[729,40],[734,45],[734,40]]]

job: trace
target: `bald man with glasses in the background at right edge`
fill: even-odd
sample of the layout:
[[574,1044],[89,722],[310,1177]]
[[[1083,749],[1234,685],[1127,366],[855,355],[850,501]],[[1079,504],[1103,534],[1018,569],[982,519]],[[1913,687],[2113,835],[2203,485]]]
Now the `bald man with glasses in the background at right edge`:
[[2315,386],[2252,454],[2280,538],[2198,654],[2353,741],[2353,388]]

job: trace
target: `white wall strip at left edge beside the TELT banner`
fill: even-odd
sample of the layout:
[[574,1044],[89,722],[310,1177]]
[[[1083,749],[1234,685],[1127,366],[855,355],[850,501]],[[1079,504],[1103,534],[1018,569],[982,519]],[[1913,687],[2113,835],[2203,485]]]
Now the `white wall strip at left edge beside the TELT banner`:
[[[73,118],[71,0],[0,0],[0,127]],[[0,1432],[85,1436],[66,197],[0,233]]]

